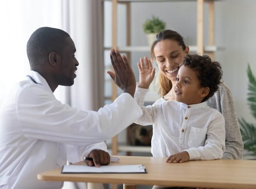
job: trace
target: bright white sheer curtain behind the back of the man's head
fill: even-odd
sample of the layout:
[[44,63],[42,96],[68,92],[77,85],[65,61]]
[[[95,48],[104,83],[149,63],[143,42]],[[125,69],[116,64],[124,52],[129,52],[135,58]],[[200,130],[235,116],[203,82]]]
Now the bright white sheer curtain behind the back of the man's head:
[[12,85],[29,71],[28,38],[37,28],[61,28],[61,0],[0,1],[0,105]]

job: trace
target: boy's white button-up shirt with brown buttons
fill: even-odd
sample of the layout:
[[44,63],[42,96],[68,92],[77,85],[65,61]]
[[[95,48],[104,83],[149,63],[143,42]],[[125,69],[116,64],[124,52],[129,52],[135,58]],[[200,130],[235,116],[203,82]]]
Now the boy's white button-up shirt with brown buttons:
[[[140,106],[147,89],[136,88],[135,100]],[[186,105],[167,101],[142,107],[143,115],[136,123],[153,125],[151,153],[169,157],[187,151],[190,160],[220,159],[225,151],[225,121],[218,110],[206,102]]]

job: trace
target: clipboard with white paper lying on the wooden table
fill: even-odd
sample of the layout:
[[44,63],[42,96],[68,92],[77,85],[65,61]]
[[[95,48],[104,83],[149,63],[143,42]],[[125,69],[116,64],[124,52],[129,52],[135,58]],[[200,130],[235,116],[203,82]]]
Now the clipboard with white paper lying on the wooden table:
[[147,173],[144,165],[64,165],[61,173]]

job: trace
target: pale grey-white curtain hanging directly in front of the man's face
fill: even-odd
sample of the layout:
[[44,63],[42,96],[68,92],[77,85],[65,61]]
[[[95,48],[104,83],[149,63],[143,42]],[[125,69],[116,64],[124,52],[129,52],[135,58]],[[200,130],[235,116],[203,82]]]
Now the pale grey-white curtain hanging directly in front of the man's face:
[[[74,40],[79,66],[75,84],[60,88],[56,93],[63,94],[64,91],[63,100],[72,107],[98,110],[104,101],[103,1],[63,0],[62,12],[62,25]],[[65,182],[64,185],[64,189],[84,188],[86,183]],[[89,183],[89,188],[101,189],[103,186]]]

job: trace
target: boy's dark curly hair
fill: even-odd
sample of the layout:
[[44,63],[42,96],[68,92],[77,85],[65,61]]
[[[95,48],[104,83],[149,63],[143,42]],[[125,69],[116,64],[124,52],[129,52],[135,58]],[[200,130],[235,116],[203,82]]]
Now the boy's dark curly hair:
[[183,65],[196,71],[201,87],[209,87],[209,94],[203,99],[207,101],[218,90],[219,84],[222,83],[222,70],[218,62],[211,61],[207,55],[188,54],[183,60]]

